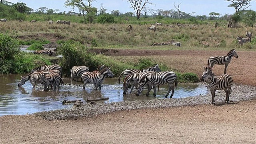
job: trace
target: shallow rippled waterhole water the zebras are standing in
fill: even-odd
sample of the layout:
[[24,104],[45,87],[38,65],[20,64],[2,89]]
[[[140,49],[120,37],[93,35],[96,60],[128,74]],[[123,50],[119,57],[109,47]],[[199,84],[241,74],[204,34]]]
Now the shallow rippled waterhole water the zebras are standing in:
[[[118,79],[116,78],[106,78],[102,84],[101,91],[94,90],[93,84],[87,84],[85,90],[82,90],[82,82],[73,81],[71,85],[65,84],[64,86],[60,86],[60,91],[50,90],[44,92],[41,84],[38,84],[34,89],[32,88],[32,84],[27,81],[23,86],[18,87],[19,81],[20,75],[0,75],[0,116],[34,113],[73,106],[73,104],[62,105],[63,99],[85,101],[87,98],[109,97],[109,100],[101,102],[155,99],[153,97],[153,90],[151,90],[149,96],[145,96],[147,89],[144,89],[140,96],[130,94],[130,89],[126,95],[123,95],[122,83],[118,84]],[[70,82],[70,79],[64,79],[64,83]],[[167,88],[168,85],[160,86],[159,92],[156,91],[156,98],[165,98]],[[133,90],[134,92],[135,90]],[[207,88],[204,85],[178,84],[172,98],[198,96],[206,93]]]

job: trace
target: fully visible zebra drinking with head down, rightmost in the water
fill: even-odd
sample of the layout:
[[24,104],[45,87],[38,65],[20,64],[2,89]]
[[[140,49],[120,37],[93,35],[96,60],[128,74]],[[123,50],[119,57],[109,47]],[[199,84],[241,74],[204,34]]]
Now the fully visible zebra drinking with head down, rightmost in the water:
[[[175,81],[175,82],[174,82]],[[148,84],[148,92],[146,93],[146,96],[148,96],[150,90],[152,89],[152,86],[154,88],[154,94],[153,96],[156,97],[156,84],[157,85],[164,85],[168,84],[168,92],[165,95],[165,98],[170,94],[170,91],[172,90],[172,94],[170,98],[172,98],[173,93],[174,93],[174,83],[175,83],[175,88],[177,88],[177,76],[175,72],[172,71],[164,71],[164,72],[154,72],[152,74],[149,74],[148,76],[144,76],[142,80],[139,82],[139,86],[136,90],[136,96],[139,96],[140,93],[142,92],[142,89],[144,86]]]

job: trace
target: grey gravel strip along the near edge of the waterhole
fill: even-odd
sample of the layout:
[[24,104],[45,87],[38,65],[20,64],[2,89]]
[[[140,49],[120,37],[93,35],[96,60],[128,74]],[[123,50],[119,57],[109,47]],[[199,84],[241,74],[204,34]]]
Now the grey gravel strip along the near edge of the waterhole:
[[[252,100],[256,97],[256,87],[247,85],[232,85],[230,94],[230,103],[238,103],[239,101]],[[222,105],[226,98],[224,91],[216,91],[215,104]],[[139,100],[133,102],[112,102],[96,104],[84,103],[80,107],[72,107],[70,109],[52,110],[38,112],[32,115],[39,116],[45,120],[68,120],[77,119],[79,117],[92,117],[99,114],[106,114],[121,110],[132,110],[139,108],[165,108],[177,106],[192,106],[198,104],[210,104],[212,96],[210,90],[206,95],[192,96],[187,98],[166,98],[156,100]]]

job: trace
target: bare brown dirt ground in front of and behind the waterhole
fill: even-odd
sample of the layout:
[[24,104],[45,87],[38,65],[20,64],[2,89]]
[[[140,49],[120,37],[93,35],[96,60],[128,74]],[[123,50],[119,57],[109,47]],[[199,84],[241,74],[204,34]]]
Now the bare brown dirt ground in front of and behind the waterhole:
[[[101,50],[102,51],[102,50]],[[202,74],[212,55],[226,51],[195,50],[107,50],[111,56],[168,56],[184,58],[173,64]],[[239,84],[256,84],[256,52],[238,51],[227,73]],[[175,62],[175,61],[174,61]],[[178,63],[178,64],[177,64]],[[222,74],[224,66],[214,66]],[[1,116],[0,143],[255,143],[256,100],[213,106],[211,104],[175,108],[114,112],[78,120],[46,121],[34,116]]]

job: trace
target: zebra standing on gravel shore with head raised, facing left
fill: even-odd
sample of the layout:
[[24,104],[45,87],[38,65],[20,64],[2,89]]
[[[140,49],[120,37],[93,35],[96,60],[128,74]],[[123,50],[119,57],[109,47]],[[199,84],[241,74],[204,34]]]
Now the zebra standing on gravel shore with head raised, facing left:
[[208,87],[210,88],[212,94],[212,104],[215,104],[215,92],[216,90],[224,90],[226,92],[225,103],[228,104],[229,95],[231,93],[231,86],[233,80],[229,74],[222,74],[220,76],[214,76],[212,68],[210,66],[204,67],[204,73],[200,78],[201,81],[207,81]]

